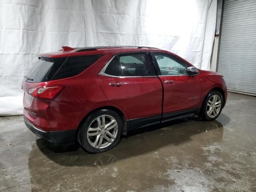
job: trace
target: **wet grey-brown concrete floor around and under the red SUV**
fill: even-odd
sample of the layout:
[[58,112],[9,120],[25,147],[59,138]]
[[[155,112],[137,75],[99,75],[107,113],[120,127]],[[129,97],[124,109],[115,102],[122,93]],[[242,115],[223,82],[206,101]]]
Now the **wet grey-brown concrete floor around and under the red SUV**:
[[70,150],[0,118],[0,192],[256,191],[256,97],[229,93],[217,120],[158,124],[104,153]]

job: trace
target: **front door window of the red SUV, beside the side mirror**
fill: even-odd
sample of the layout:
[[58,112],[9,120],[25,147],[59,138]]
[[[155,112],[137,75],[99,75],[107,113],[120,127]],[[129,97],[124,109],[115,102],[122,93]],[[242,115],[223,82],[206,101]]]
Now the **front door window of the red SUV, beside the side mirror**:
[[160,68],[161,75],[184,75],[187,74],[188,64],[173,55],[153,52]]

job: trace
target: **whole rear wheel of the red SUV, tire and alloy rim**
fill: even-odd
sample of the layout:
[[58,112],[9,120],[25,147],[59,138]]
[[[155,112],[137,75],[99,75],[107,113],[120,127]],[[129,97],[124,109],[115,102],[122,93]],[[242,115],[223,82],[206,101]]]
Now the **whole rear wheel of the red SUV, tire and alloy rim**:
[[116,146],[121,134],[120,116],[113,110],[101,109],[90,114],[82,123],[78,131],[78,142],[87,152],[100,153]]

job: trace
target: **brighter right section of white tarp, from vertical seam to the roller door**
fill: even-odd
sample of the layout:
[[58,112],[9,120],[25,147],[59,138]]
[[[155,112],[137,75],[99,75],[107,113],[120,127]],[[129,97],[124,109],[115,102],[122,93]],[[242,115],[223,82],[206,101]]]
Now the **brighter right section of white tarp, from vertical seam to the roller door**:
[[87,46],[154,46],[170,50],[198,68],[210,69],[217,0],[84,3]]

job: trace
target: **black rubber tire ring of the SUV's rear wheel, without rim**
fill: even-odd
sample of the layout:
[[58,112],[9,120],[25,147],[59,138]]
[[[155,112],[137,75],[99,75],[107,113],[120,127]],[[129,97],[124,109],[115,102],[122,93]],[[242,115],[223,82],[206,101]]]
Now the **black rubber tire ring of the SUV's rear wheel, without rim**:
[[[98,116],[101,115],[110,115],[112,117],[115,118],[117,124],[118,124],[118,132],[116,135],[116,139],[112,142],[112,144],[110,144],[108,147],[103,148],[103,149],[97,149],[92,147],[88,140],[87,140],[87,130],[91,124],[91,122],[97,118]],[[84,148],[84,150],[86,150],[89,153],[100,153],[100,152],[104,152],[107,150],[110,150],[111,148],[113,148],[118,141],[120,140],[122,134],[122,120],[120,118],[120,116],[114,112],[113,110],[108,110],[108,109],[102,109],[102,110],[98,110],[96,112],[93,112],[92,114],[90,114],[86,120],[84,120],[84,122],[82,123],[79,132],[78,132],[78,141],[81,144],[82,148]]]

